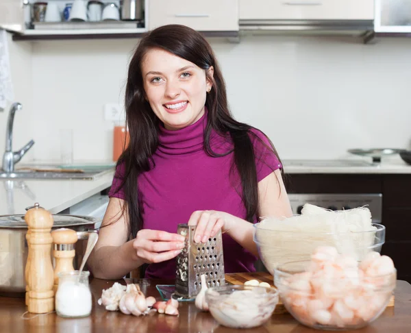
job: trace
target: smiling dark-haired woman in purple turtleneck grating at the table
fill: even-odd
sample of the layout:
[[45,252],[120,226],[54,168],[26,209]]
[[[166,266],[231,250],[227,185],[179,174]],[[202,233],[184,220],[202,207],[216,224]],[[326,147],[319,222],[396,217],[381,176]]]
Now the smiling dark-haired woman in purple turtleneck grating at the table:
[[197,225],[196,242],[221,230],[225,272],[253,271],[253,223],[292,214],[282,164],[262,132],[231,116],[201,34],[166,25],[142,38],[125,109],[130,141],[90,258],[94,275],[116,279],[147,263],[146,277],[174,278],[179,223]]

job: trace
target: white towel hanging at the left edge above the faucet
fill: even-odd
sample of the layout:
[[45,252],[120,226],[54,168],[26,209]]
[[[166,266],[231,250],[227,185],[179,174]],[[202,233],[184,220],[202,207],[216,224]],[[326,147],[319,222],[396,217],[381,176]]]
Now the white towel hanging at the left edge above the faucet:
[[0,29],[0,111],[4,110],[7,102],[12,101],[13,98],[8,36],[5,30]]

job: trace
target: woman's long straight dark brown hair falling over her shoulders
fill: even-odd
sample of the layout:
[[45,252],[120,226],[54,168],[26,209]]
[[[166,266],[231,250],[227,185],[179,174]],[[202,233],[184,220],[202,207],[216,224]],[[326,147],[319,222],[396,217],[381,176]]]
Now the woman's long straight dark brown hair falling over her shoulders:
[[[129,128],[129,145],[119,158],[117,165],[125,165],[125,174],[120,186],[123,188],[127,205],[129,227],[132,236],[142,228],[142,217],[138,205],[138,183],[140,173],[155,167],[153,153],[158,147],[159,119],[155,116],[149,102],[145,99],[142,79],[142,60],[151,49],[163,49],[179,58],[196,64],[206,71],[212,82],[212,89],[206,97],[208,123],[204,132],[204,150],[208,155],[219,157],[210,147],[210,134],[214,130],[222,136],[229,135],[233,143],[234,166],[241,180],[242,201],[247,210],[247,221],[253,221],[258,214],[258,181],[255,163],[255,151],[251,143],[250,125],[234,120],[227,106],[225,82],[214,52],[205,38],[193,29],[184,25],[164,25],[153,29],[143,36],[134,56],[129,63],[127,86],[125,90],[126,122]],[[208,69],[214,67],[214,75]],[[257,139],[258,136],[256,136]],[[270,141],[269,141],[270,142]],[[271,143],[271,142],[270,142]],[[277,151],[271,143],[275,155]]]

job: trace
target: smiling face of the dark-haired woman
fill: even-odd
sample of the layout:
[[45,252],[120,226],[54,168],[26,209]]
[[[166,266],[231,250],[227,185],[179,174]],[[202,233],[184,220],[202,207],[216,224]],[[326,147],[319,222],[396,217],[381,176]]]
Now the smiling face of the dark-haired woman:
[[[213,68],[209,69],[210,75]],[[206,71],[162,49],[151,49],[142,60],[146,98],[167,130],[179,130],[204,114],[211,82]]]

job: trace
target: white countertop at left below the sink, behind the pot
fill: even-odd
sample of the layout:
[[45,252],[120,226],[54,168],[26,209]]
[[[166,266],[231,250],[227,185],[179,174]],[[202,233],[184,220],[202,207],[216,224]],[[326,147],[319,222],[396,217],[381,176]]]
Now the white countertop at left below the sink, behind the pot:
[[95,180],[0,180],[0,215],[25,214],[36,202],[49,212],[62,212],[109,188],[114,171]]

